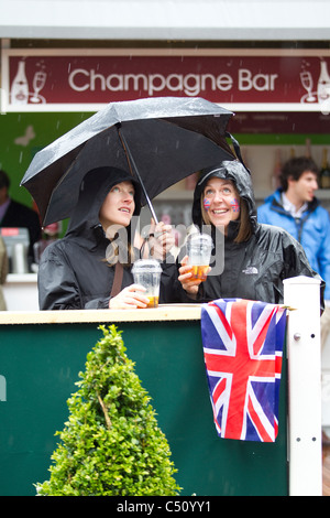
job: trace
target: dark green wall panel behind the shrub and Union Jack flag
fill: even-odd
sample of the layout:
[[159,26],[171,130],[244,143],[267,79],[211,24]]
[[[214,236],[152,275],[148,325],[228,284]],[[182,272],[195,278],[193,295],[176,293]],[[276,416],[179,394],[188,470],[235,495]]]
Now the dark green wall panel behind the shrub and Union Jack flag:
[[[121,323],[128,356],[152,397],[178,468],[183,495],[287,495],[286,369],[275,443],[219,439],[205,374],[199,322]],[[68,418],[66,401],[101,332],[97,324],[2,325],[0,495],[34,495]]]

